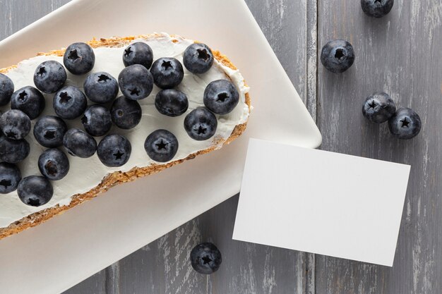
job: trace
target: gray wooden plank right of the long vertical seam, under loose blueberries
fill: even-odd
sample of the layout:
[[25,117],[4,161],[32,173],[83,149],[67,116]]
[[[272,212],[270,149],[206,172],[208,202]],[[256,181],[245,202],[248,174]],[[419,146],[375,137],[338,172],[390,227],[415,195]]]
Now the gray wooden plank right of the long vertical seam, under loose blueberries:
[[[411,164],[412,171],[394,267],[318,255],[316,292],[442,293],[441,3],[399,0],[390,15],[372,19],[364,16],[359,1],[318,2],[319,49],[330,39],[348,39],[357,55],[342,75],[318,68],[322,148]],[[364,97],[378,90],[420,114],[418,137],[396,140],[387,125],[364,120]],[[374,183],[368,183],[374,192],[376,180],[381,179],[374,175]]]

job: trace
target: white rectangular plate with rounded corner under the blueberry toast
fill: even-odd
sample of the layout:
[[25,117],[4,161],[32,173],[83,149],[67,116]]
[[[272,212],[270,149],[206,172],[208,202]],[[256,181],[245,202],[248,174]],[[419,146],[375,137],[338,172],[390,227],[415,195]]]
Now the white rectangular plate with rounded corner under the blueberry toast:
[[229,56],[251,87],[254,109],[246,132],[220,151],[119,185],[0,240],[2,292],[59,293],[236,194],[249,137],[321,144],[244,1],[74,0],[0,42],[0,68],[71,42],[150,32],[198,39]]

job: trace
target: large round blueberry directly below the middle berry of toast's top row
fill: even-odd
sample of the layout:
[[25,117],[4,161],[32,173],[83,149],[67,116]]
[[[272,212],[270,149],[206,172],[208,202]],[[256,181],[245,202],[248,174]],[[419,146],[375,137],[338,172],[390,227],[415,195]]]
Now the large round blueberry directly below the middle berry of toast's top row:
[[124,97],[132,100],[144,99],[153,90],[152,73],[139,64],[124,68],[118,75],[118,83]]

